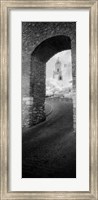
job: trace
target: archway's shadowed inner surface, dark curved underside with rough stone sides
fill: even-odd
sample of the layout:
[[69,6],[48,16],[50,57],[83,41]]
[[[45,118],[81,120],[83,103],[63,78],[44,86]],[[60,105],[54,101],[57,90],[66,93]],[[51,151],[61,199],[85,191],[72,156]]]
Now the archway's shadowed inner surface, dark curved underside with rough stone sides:
[[[72,45],[72,47],[74,47]],[[31,54],[31,75],[30,75],[30,96],[33,97],[33,104],[29,110],[29,126],[38,124],[46,119],[45,116],[45,68],[46,62],[56,53],[63,50],[72,49],[70,37],[58,35],[48,38],[41,42]],[[75,49],[75,47],[73,48]],[[76,56],[72,51],[72,68],[75,67],[73,57]],[[74,69],[73,69],[74,72]],[[75,88],[74,73],[73,91]],[[75,96],[73,95],[73,98]],[[75,100],[73,100],[75,116]],[[75,117],[74,117],[75,119]],[[74,120],[75,124],[75,120]],[[75,126],[75,125],[74,125]]]

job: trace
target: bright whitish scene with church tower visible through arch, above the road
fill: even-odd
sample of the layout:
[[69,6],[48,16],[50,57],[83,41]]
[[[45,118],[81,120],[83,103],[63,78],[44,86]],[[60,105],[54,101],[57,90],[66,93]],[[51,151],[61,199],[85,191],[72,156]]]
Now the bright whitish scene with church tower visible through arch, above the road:
[[71,52],[52,57],[46,65],[46,95],[66,96],[72,90]]

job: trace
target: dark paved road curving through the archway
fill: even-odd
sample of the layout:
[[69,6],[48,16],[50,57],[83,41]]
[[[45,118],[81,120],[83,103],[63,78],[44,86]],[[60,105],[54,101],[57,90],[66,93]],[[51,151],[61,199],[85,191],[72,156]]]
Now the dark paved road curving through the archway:
[[72,101],[51,99],[47,120],[23,131],[23,178],[75,178],[76,134]]

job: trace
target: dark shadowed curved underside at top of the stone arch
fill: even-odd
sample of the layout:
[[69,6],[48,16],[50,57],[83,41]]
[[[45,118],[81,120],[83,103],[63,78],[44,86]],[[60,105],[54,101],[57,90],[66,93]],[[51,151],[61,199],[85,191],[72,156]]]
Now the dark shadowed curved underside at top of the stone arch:
[[46,63],[56,53],[69,49],[71,49],[70,38],[64,35],[58,35],[41,42],[33,51],[32,56]]

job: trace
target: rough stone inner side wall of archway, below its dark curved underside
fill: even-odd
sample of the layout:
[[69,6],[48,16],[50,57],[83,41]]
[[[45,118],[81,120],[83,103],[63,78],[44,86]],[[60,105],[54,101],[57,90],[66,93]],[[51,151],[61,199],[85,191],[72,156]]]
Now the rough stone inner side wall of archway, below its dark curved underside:
[[33,107],[31,108],[29,126],[38,124],[46,119],[45,116],[45,77],[46,65],[32,55],[30,96],[33,96]]

